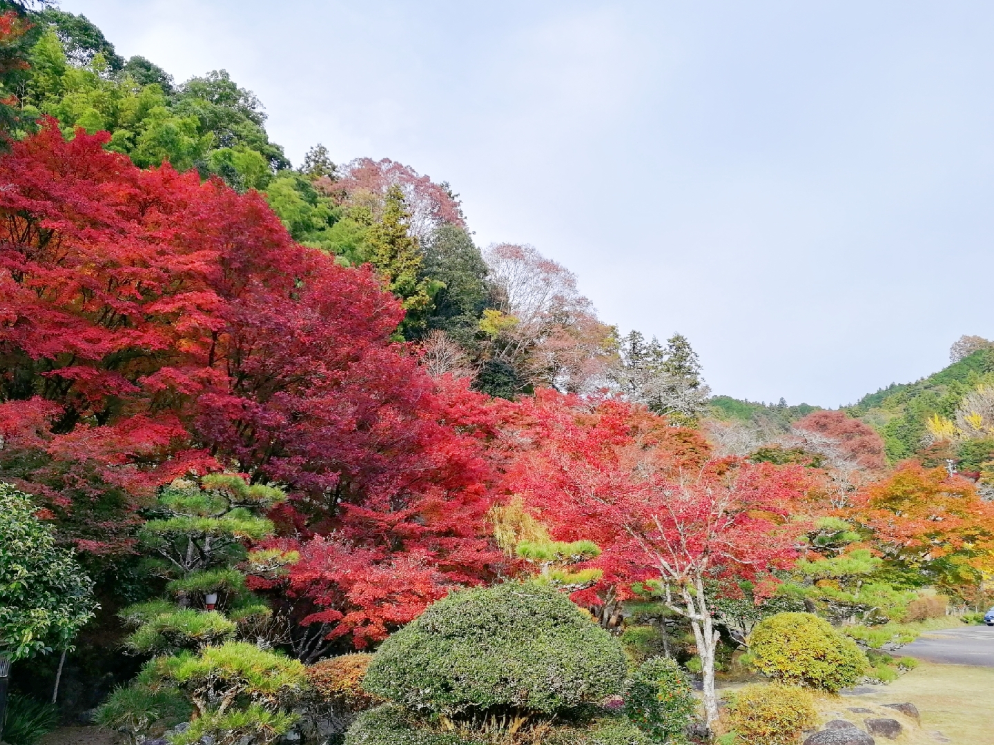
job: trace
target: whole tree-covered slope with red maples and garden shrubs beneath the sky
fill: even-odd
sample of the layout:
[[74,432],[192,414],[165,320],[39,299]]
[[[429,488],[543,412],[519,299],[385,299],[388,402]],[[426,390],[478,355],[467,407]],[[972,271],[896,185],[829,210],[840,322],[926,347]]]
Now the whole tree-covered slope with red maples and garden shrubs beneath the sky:
[[294,168],[224,71],[5,8],[11,745],[732,742],[744,665],[796,739],[805,688],[990,599],[982,340],[848,411],[712,398],[448,184]]

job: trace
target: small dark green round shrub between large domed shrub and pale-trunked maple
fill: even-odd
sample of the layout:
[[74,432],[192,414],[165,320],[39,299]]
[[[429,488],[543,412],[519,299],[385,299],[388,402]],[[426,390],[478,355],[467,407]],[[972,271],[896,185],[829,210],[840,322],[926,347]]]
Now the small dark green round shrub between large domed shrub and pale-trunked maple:
[[625,687],[624,713],[656,742],[686,742],[684,730],[696,709],[690,680],[666,658],[647,660]]

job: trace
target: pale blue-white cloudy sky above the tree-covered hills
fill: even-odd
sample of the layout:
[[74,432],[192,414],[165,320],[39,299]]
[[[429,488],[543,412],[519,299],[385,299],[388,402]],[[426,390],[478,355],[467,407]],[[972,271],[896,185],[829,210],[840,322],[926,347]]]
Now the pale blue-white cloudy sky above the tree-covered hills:
[[849,403],[994,338],[994,4],[63,0],[226,69],[299,164],[406,163],[716,392]]

